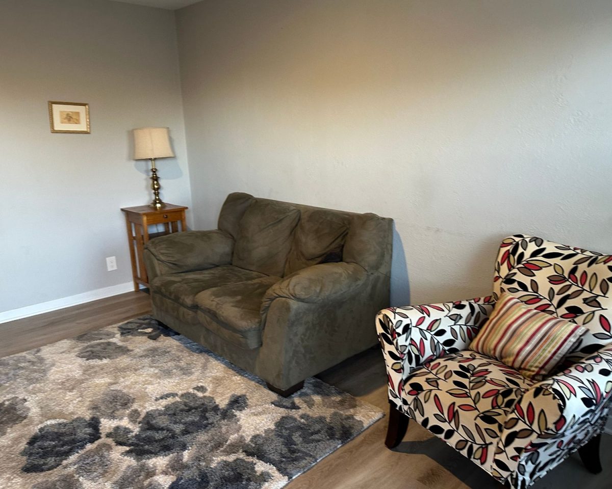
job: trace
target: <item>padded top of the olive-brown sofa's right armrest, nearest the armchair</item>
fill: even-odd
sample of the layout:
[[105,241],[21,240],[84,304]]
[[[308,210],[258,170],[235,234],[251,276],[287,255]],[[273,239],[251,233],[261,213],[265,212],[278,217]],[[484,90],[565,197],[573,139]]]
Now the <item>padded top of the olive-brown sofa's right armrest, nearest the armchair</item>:
[[285,297],[304,303],[343,300],[365,281],[367,272],[357,263],[321,263],[286,276],[264,295],[261,312],[265,314],[275,298]]

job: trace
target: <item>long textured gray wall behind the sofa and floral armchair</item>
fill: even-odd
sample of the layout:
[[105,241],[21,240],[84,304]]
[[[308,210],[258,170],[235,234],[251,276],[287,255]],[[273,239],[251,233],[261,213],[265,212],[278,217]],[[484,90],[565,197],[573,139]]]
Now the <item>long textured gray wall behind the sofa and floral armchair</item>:
[[392,217],[395,304],[489,293],[510,233],[612,252],[609,0],[204,1],[177,32],[197,228],[231,191]]

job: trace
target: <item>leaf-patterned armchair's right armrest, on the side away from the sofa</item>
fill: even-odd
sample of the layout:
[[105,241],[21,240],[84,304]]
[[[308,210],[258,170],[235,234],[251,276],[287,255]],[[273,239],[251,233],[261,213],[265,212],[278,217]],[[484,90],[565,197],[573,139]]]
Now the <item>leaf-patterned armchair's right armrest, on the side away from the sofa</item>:
[[609,345],[534,384],[506,418],[493,469],[520,479],[545,464],[552,468],[602,431],[611,392]]

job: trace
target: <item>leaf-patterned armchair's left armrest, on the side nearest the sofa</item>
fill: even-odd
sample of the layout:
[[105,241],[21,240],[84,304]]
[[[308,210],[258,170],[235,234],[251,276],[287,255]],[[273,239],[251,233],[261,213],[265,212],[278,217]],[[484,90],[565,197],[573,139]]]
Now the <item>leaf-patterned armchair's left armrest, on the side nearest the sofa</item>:
[[492,296],[424,306],[388,307],[376,316],[389,381],[389,400],[401,406],[412,370],[464,350],[493,311]]

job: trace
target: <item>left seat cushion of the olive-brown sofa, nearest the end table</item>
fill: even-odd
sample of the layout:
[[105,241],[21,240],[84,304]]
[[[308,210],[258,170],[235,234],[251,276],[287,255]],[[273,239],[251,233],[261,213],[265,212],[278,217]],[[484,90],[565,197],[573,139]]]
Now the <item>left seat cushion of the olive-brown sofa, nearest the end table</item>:
[[244,270],[233,265],[208,268],[207,270],[172,273],[155,277],[149,286],[158,293],[185,307],[197,306],[195,296],[219,285],[236,284],[263,277],[256,271]]

